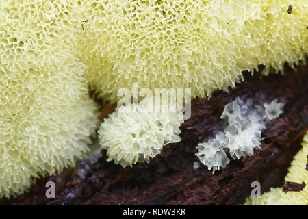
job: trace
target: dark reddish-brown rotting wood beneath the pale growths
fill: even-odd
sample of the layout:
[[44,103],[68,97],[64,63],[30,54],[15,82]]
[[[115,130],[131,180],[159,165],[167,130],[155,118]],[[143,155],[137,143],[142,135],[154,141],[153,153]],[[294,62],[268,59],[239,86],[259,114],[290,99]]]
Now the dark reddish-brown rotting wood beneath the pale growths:
[[[29,194],[5,204],[48,205],[238,205],[259,181],[263,191],[283,185],[293,155],[308,128],[308,67],[288,70],[286,75],[244,74],[245,81],[229,93],[216,92],[211,99],[194,99],[192,116],[181,126],[181,142],[165,146],[150,164],[120,168],[105,162],[105,152],[92,155],[74,170],[41,179]],[[264,129],[261,150],[245,159],[232,160],[215,175],[201,164],[196,145],[220,130],[224,105],[235,97],[262,104],[279,98],[284,113]],[[55,181],[57,197],[44,198],[44,182]],[[1,201],[0,201],[1,203]]]

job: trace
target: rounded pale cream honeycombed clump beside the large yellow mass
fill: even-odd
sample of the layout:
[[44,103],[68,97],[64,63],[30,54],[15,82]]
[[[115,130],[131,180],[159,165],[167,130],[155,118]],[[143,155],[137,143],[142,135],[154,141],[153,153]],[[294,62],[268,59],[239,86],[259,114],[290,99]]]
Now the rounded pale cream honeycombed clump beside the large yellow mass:
[[183,113],[168,108],[167,112],[152,112],[148,101],[121,106],[105,119],[99,129],[99,140],[107,149],[107,161],[131,166],[149,162],[168,143],[179,142],[179,126]]

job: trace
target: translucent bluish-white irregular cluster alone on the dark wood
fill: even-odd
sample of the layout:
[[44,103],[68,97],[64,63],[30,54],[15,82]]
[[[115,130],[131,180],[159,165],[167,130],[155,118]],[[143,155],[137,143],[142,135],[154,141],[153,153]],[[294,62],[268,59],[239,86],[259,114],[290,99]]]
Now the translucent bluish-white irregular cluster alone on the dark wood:
[[218,132],[214,140],[198,144],[196,156],[209,170],[213,168],[215,172],[229,163],[223,149],[228,149],[233,159],[253,155],[254,149],[261,149],[261,131],[266,121],[277,118],[283,105],[277,99],[269,104],[264,103],[264,106],[253,105],[251,99],[245,102],[240,98],[228,103],[220,116],[227,120],[227,127]]

